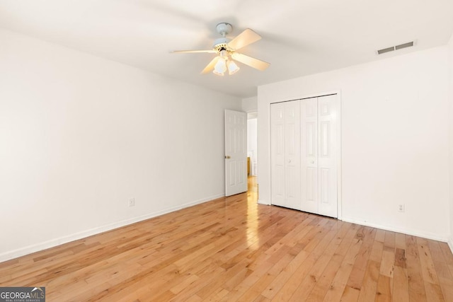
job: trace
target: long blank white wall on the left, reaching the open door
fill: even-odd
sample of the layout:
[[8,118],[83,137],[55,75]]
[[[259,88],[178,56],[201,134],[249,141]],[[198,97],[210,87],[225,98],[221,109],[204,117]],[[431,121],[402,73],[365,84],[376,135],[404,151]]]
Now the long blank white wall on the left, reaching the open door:
[[0,45],[0,261],[224,196],[241,99],[6,30]]

